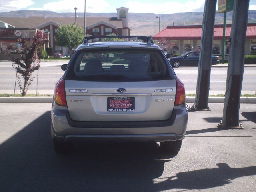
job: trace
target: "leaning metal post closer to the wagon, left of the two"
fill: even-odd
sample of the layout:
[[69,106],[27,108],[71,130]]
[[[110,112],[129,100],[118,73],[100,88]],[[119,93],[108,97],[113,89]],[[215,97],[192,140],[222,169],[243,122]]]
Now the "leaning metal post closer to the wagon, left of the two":
[[198,110],[208,109],[216,4],[217,0],[206,0],[204,5],[195,101],[195,108]]

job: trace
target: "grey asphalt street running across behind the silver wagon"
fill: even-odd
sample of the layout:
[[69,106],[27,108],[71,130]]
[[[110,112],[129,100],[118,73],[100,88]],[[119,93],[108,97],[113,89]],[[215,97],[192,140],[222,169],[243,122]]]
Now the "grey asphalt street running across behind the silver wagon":
[[[53,93],[58,79],[64,74],[60,69],[61,64],[68,61],[42,62],[38,73],[38,90],[42,93]],[[178,78],[185,85],[186,93],[196,92],[198,67],[174,68]],[[212,67],[210,81],[210,95],[224,94],[226,90],[227,67]],[[30,86],[30,92],[36,91],[37,72],[33,74],[34,82]],[[10,62],[0,62],[0,93],[13,93],[16,72]],[[256,90],[256,67],[244,68],[242,94],[255,94]],[[18,84],[16,84],[18,90]]]

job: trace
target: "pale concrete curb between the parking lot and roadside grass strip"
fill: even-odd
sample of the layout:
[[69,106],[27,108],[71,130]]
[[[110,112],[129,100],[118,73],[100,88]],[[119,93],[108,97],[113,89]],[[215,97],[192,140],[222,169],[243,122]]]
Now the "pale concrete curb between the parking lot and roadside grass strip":
[[[51,103],[52,97],[0,97],[0,103]],[[187,103],[194,103],[195,97],[186,97]],[[209,97],[209,103],[224,103],[223,97]],[[241,97],[240,103],[256,103],[255,97]]]

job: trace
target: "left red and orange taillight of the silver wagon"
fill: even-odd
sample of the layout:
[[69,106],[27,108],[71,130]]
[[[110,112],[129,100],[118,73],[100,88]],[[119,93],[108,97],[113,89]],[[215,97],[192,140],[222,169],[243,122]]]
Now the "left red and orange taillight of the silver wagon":
[[55,86],[54,101],[60,106],[67,106],[64,79],[60,80]]

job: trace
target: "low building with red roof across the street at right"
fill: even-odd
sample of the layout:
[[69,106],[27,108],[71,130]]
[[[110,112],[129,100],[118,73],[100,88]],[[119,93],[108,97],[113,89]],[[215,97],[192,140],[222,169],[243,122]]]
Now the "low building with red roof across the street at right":
[[[226,25],[226,50],[228,54],[231,24]],[[167,47],[171,54],[182,54],[191,50],[200,50],[202,25],[167,26],[153,40],[158,40],[160,45]],[[223,25],[214,26],[213,54],[222,54]],[[247,25],[245,54],[256,54],[256,23]]]

